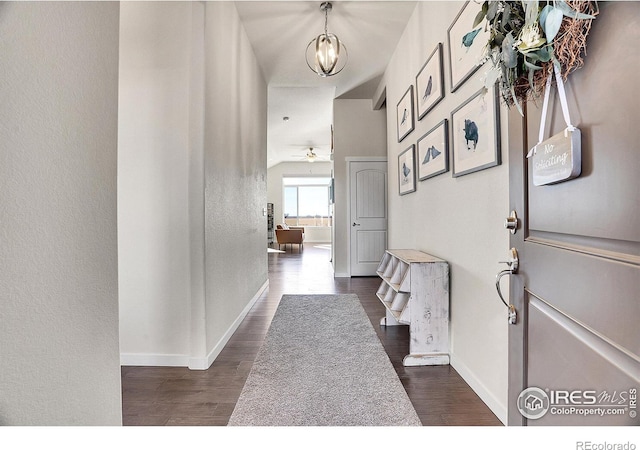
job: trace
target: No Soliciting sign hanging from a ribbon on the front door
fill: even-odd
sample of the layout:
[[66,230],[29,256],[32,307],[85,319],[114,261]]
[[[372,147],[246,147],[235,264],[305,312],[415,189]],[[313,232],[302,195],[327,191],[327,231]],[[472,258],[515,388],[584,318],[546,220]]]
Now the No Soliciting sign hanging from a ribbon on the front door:
[[581,150],[578,128],[567,128],[536,145],[531,158],[534,186],[561,183],[580,176]]

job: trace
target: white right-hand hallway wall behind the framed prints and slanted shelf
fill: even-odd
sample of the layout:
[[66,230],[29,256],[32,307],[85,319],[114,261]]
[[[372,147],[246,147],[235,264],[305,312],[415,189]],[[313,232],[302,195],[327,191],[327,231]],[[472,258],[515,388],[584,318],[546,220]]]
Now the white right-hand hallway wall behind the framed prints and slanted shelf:
[[[447,28],[463,2],[418,2],[416,11],[387,68],[389,157],[389,246],[415,248],[449,261],[451,266],[452,366],[503,421],[507,404],[506,308],[495,289],[495,276],[508,254],[508,152],[502,165],[452,178],[451,172],[417,182],[417,191],[398,195],[398,154],[462,104],[482,86],[480,69],[455,93],[449,82]],[[473,5],[473,3],[472,3]],[[397,142],[396,111],[407,88],[438,42],[444,44],[445,97],[416,129]],[[502,108],[502,142],[506,111]],[[508,283],[503,284],[508,292]]]

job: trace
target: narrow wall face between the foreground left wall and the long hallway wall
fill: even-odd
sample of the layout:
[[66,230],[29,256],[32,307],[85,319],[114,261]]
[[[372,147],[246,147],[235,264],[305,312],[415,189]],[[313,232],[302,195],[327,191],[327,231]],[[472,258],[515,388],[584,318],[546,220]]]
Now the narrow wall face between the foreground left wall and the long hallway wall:
[[[124,364],[190,354],[190,2],[123,2],[118,234]],[[196,39],[197,42],[197,39]]]

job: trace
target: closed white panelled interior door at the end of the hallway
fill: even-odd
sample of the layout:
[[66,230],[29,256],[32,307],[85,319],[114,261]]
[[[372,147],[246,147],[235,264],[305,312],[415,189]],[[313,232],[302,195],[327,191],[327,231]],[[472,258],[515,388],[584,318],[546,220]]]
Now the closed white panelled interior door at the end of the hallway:
[[387,163],[349,162],[351,276],[376,275],[387,247]]

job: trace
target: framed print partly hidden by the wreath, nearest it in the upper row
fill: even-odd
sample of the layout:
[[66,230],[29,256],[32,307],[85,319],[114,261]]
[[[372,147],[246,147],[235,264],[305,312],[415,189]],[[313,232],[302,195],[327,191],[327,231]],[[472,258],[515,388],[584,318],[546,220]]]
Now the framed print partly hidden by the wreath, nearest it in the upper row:
[[489,31],[481,23],[473,26],[481,6],[466,2],[447,31],[449,62],[451,63],[451,92],[455,92],[481,66]]

